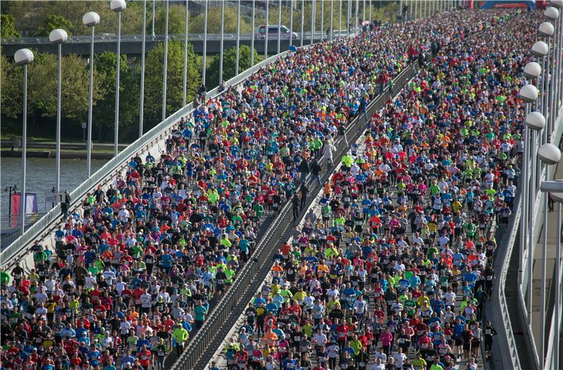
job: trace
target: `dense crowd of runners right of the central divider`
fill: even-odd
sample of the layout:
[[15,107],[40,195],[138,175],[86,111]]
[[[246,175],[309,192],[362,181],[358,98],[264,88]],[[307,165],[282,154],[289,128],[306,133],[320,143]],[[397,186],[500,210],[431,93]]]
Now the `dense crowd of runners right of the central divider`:
[[373,117],[274,258],[227,368],[475,370],[481,342],[491,357],[493,230],[517,190],[538,25],[507,14],[434,53]]

